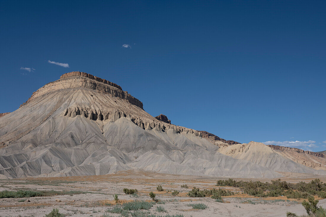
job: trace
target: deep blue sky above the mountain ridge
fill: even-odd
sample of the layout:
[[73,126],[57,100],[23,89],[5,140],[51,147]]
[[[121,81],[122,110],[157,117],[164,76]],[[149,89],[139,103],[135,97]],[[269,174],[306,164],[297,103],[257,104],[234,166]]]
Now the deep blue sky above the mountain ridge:
[[0,112],[79,70],[176,125],[325,150],[325,8],[324,0],[1,1]]

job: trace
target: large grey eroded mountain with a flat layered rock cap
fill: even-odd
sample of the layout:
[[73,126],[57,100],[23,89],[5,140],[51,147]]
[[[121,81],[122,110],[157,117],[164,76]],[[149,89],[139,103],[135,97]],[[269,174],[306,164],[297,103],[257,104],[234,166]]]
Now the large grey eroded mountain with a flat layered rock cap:
[[171,124],[162,114],[154,118],[115,83],[70,72],[0,118],[0,178],[121,170],[239,178],[277,178],[282,176],[277,171],[285,170],[325,173],[267,146],[266,157],[274,161],[255,157],[252,151],[230,154],[227,147],[242,144],[204,132]]

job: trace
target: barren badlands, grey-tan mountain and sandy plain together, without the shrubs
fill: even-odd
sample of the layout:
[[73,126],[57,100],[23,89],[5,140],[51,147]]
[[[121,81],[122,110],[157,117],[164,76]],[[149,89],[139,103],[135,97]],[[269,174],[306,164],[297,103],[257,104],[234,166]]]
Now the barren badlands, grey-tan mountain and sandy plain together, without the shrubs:
[[[66,216],[304,214],[301,202],[307,195],[271,195],[266,189],[256,194],[216,181],[325,181],[325,163],[324,153],[254,141],[241,144],[174,125],[163,114],[148,114],[119,85],[69,72],[38,89],[17,110],[0,114],[0,216],[45,216],[53,208]],[[282,194],[292,191],[291,186]],[[193,187],[220,188],[229,195],[192,197]],[[124,188],[138,191],[129,195]],[[22,199],[8,196],[7,190],[38,194]],[[178,194],[172,195],[174,191]],[[311,194],[323,205],[320,192]],[[138,214],[119,212],[134,201],[151,207]],[[196,203],[207,207],[192,208]]]

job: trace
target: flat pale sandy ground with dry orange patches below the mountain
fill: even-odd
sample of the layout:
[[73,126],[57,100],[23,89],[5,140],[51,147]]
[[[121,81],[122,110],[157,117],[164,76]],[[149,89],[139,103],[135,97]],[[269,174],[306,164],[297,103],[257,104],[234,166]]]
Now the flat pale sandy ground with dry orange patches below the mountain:
[[[286,181],[310,181],[316,176],[307,174],[287,174],[282,178]],[[326,177],[317,177],[326,181]],[[0,191],[33,189],[33,190],[81,190],[92,193],[78,195],[56,195],[47,197],[26,198],[30,202],[18,202],[22,198],[0,199],[0,216],[45,216],[53,208],[59,209],[67,216],[93,216],[100,217],[103,214],[119,216],[120,214],[108,213],[105,210],[114,207],[106,205],[114,203],[113,194],[118,194],[119,203],[132,200],[150,201],[149,192],[153,191],[156,197],[164,204],[156,204],[150,210],[151,214],[183,214],[190,216],[286,216],[286,212],[305,214],[301,201],[289,199],[290,201],[276,202],[275,199],[287,200],[286,197],[259,198],[245,194],[223,197],[225,203],[215,202],[210,197],[191,198],[186,196],[187,192],[194,186],[203,189],[212,189],[216,180],[212,177],[194,177],[185,175],[169,175],[151,172],[124,171],[112,175],[84,176],[84,177],[54,177],[54,178],[24,178],[16,180],[0,180]],[[268,180],[261,180],[268,181]],[[163,189],[169,192],[157,192],[156,186],[161,184]],[[188,189],[181,188],[187,184]],[[125,195],[123,188],[136,188],[137,196]],[[221,187],[232,191],[237,188]],[[171,191],[178,190],[180,194],[172,196]],[[25,199],[25,198],[24,198]],[[57,200],[57,201],[56,201]],[[247,203],[251,200],[256,204]],[[208,206],[205,210],[194,210],[187,206],[192,203],[204,203]],[[156,207],[162,206],[167,212],[157,212]],[[326,199],[319,200],[319,206],[326,207]]]

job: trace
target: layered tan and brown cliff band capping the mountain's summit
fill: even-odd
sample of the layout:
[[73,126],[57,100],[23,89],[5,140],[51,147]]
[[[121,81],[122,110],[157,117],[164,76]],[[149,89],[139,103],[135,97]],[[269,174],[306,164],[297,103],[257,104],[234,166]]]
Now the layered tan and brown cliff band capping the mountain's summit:
[[84,72],[69,72],[62,75],[60,80],[50,82],[34,92],[20,107],[26,105],[39,96],[43,96],[44,94],[71,88],[89,88],[96,90],[99,93],[109,94],[114,97],[125,99],[129,103],[143,109],[142,102],[128,94],[126,91],[122,91],[122,88],[119,85]]

